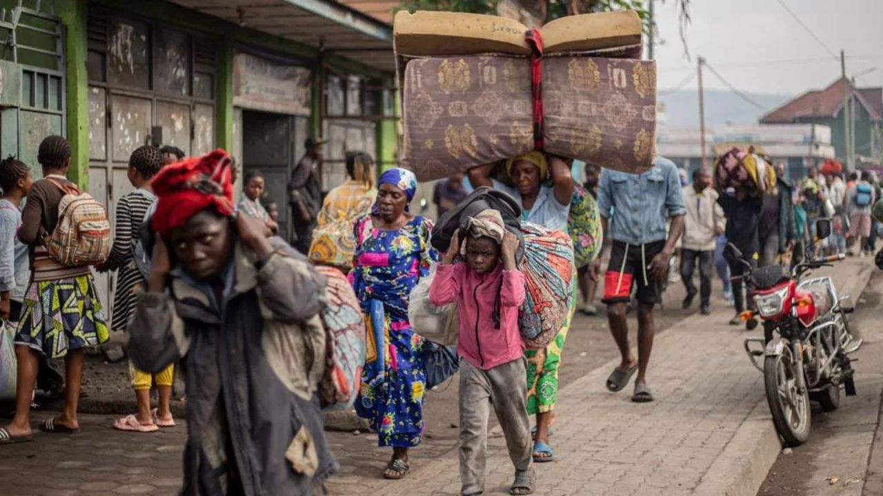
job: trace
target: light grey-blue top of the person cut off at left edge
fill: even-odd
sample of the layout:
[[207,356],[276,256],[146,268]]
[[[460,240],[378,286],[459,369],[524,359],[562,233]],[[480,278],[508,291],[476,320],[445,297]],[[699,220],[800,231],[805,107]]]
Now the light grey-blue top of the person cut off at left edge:
[[10,297],[18,302],[24,300],[31,277],[27,245],[16,236],[20,225],[19,208],[0,199],[0,291],[10,291]]

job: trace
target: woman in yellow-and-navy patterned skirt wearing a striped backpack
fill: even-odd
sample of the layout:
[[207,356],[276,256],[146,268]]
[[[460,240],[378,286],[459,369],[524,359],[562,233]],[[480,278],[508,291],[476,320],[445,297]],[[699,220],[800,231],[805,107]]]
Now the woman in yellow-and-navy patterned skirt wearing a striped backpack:
[[37,154],[43,178],[34,182],[22,211],[19,241],[29,246],[31,280],[22,304],[15,348],[19,362],[16,410],[0,428],[0,444],[31,440],[30,410],[39,357],[65,361],[64,411],[40,426],[45,432],[79,432],[77,406],[85,366],[83,349],[108,340],[102,304],[89,266],[65,266],[49,255],[44,239],[56,229],[71,145],[61,136],[43,139]]

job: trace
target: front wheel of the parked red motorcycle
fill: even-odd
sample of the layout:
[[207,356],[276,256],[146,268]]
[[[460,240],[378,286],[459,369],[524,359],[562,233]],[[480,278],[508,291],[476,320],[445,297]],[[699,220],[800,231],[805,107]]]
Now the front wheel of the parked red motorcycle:
[[764,385],[766,401],[773,414],[775,430],[779,432],[785,446],[796,447],[810,437],[810,395],[804,388],[797,391],[796,374],[791,349],[785,347],[781,355],[766,357],[764,360]]

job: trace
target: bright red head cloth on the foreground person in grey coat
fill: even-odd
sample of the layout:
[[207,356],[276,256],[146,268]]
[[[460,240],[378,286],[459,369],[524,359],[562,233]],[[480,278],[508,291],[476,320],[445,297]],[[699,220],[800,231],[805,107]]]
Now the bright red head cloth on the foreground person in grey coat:
[[230,154],[218,148],[160,169],[150,182],[158,199],[151,221],[154,230],[161,235],[168,233],[208,207],[214,207],[219,214],[232,215],[235,209],[230,164]]

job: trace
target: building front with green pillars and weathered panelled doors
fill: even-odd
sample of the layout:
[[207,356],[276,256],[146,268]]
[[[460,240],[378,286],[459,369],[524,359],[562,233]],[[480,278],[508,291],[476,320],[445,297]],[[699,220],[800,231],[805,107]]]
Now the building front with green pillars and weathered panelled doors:
[[[66,136],[70,177],[113,216],[145,144],[215,147],[287,199],[309,137],[326,191],[348,151],[396,162],[392,27],[335,0],[0,0],[0,154],[40,168]],[[4,40],[4,41],[2,41]],[[280,206],[283,235],[291,222]],[[111,219],[112,221],[113,219]],[[102,299],[112,284],[102,276]]]

